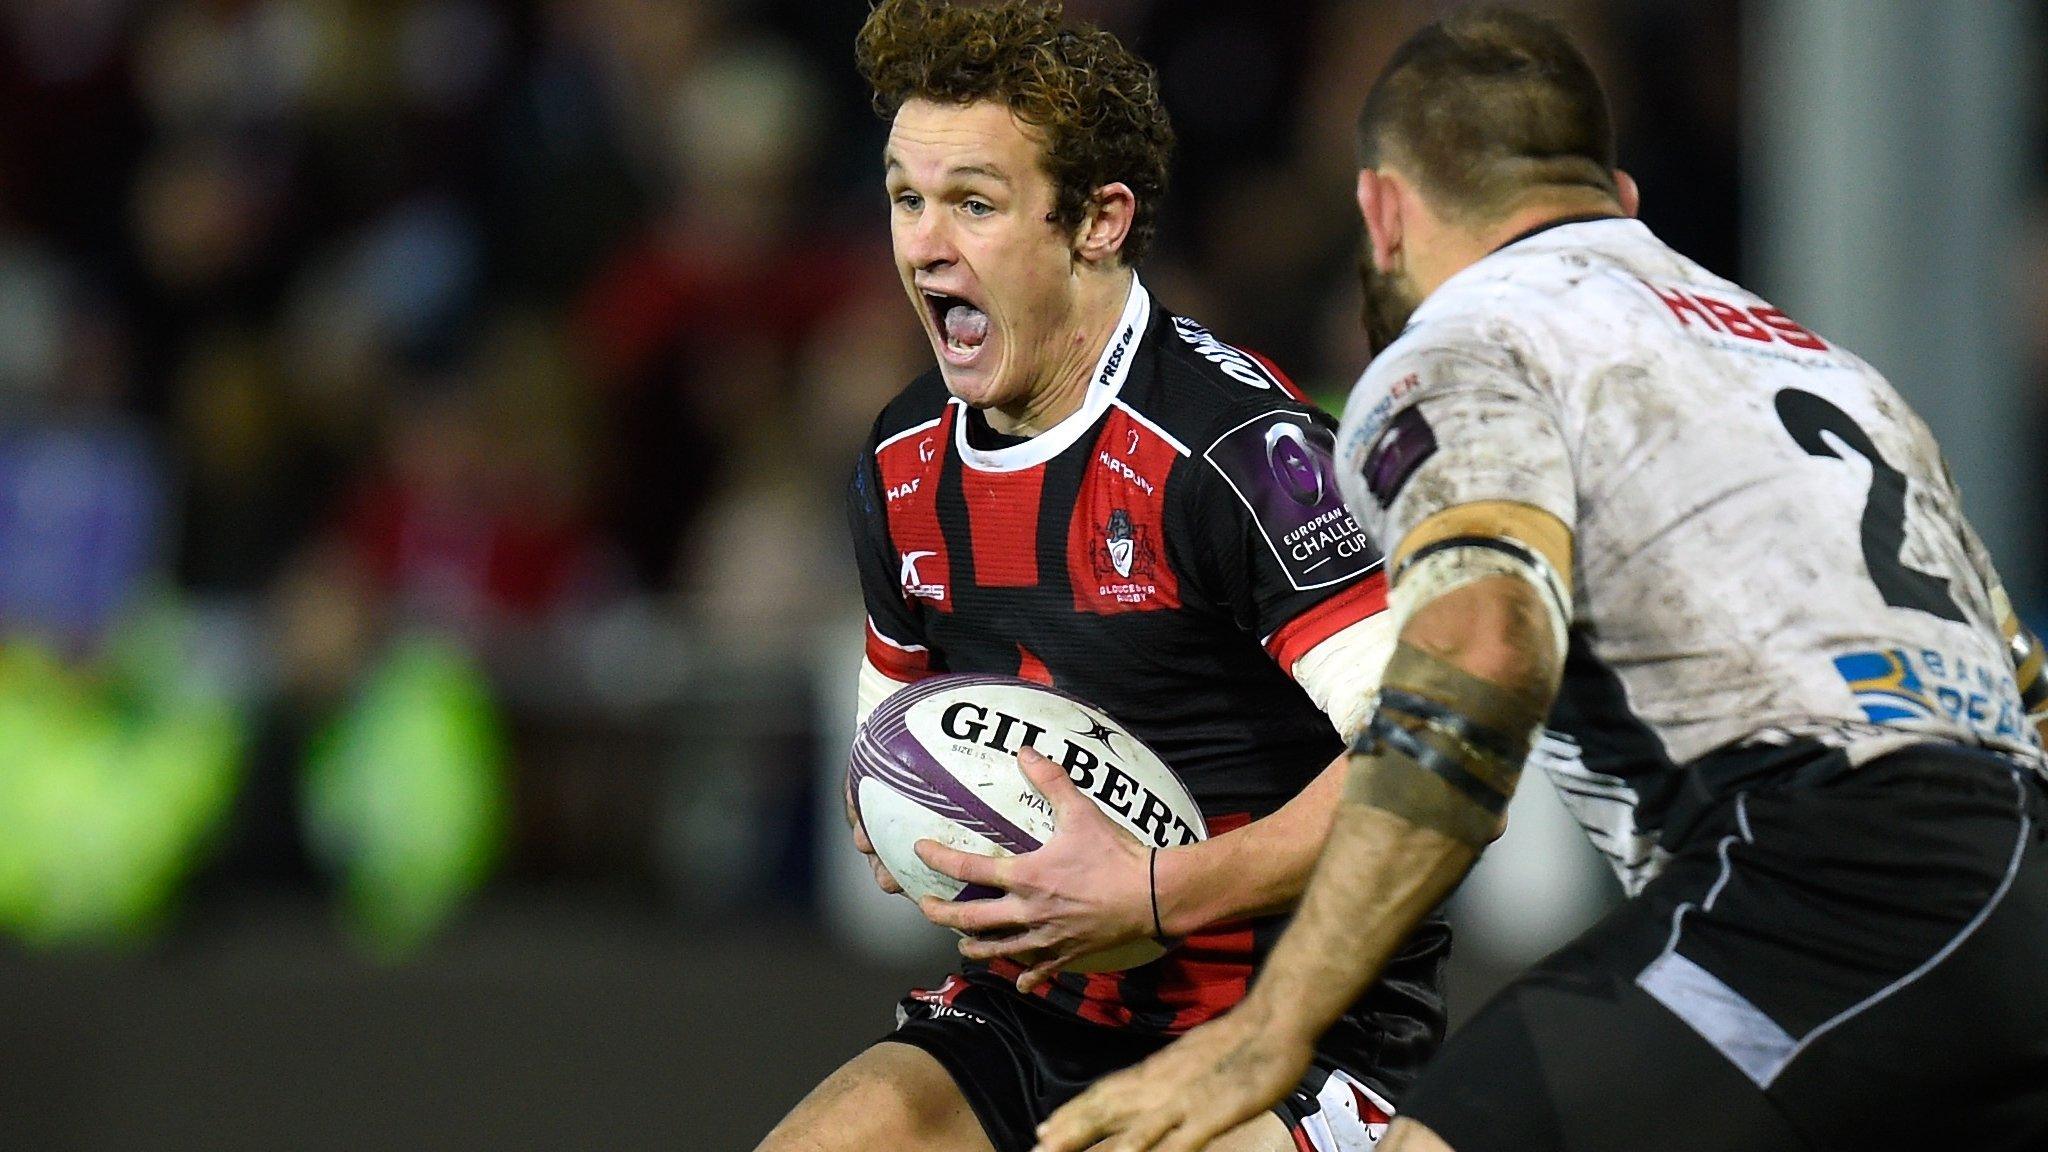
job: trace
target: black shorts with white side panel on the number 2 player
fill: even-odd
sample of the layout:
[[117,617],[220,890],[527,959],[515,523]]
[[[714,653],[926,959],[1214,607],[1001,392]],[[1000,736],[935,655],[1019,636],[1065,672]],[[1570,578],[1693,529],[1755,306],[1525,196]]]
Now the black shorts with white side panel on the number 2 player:
[[2040,1152],[2048,789],[1937,744],[1751,789],[1403,1111],[1456,1152]]

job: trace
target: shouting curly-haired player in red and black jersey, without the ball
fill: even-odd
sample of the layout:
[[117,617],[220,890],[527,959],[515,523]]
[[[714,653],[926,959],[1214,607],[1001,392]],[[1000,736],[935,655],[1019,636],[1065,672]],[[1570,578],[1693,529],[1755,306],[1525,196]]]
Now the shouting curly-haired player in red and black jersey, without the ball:
[[[1026,756],[1059,834],[1001,861],[924,845],[1006,896],[926,904],[971,933],[963,974],[905,998],[764,1148],[1022,1152],[1087,1082],[1243,996],[1335,810],[1339,732],[1391,644],[1384,582],[1337,494],[1333,422],[1135,275],[1171,141],[1143,61],[1063,29],[1057,4],[891,0],[860,68],[938,357],[874,422],[850,492],[862,709],[940,670],[1057,685],[1165,756],[1212,838],[1149,853],[1116,832],[1069,781],[1104,777],[1112,744],[1102,765]],[[1059,972],[1139,937],[1174,947]],[[1225,1146],[1368,1148],[1442,1035],[1446,947],[1438,920],[1409,935]]]

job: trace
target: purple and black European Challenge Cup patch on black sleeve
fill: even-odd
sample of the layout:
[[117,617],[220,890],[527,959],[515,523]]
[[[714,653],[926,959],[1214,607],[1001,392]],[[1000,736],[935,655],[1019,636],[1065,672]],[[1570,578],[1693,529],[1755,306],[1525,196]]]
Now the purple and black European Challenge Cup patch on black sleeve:
[[1204,459],[1251,510],[1251,523],[1296,590],[1327,588],[1378,564],[1337,496],[1329,428],[1298,412],[1268,412],[1225,433]]

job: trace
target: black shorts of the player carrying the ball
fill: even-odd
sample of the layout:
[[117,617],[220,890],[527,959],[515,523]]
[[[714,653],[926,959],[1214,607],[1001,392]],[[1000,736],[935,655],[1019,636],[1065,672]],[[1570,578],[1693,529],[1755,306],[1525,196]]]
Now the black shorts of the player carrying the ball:
[[[883,1043],[930,1052],[961,1086],[995,1152],[1028,1152],[1034,1129],[1059,1105],[1167,1041],[1075,1021],[1014,990],[948,976],[936,990],[911,992],[897,1004],[897,1029]],[[1319,1050],[1300,1086],[1272,1111],[1300,1152],[1366,1152],[1386,1132],[1389,1095],[1356,1060]]]

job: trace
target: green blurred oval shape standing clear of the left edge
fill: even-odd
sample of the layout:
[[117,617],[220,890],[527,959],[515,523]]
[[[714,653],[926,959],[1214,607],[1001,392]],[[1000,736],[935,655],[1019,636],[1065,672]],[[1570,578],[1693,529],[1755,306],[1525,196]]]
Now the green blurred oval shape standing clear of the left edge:
[[418,949],[504,853],[504,748],[483,672],[432,637],[397,642],[313,742],[307,838],[381,959]]

